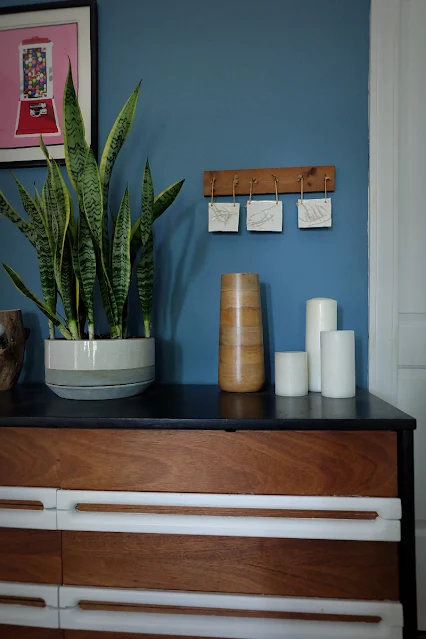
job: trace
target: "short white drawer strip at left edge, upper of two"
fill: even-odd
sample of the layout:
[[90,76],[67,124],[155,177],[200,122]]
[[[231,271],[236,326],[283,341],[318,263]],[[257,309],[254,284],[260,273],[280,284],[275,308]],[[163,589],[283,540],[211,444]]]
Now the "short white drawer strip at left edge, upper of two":
[[56,530],[56,488],[0,486],[0,528]]

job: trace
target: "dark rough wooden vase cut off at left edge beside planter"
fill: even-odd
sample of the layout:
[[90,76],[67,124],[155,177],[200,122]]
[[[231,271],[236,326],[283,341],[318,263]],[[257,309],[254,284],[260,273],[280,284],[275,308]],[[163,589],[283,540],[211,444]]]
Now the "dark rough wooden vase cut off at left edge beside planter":
[[7,345],[0,349],[0,391],[4,391],[13,388],[21,374],[29,329],[24,328],[19,310],[0,311],[0,324],[7,338]]

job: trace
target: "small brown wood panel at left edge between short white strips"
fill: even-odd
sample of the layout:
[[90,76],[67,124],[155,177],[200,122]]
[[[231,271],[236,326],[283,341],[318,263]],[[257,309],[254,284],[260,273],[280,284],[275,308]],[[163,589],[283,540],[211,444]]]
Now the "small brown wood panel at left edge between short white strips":
[[0,528],[0,581],[61,584],[61,532]]

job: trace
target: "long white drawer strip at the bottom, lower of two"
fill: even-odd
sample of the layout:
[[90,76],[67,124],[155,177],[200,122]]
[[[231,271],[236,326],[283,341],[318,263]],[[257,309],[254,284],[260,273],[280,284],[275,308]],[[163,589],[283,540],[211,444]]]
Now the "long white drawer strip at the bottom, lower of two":
[[[143,632],[154,635],[223,637],[229,639],[401,639],[402,608],[397,603],[326,599],[293,599],[190,592],[60,588],[60,625],[65,629]],[[187,606],[197,614],[82,610],[80,601],[149,606]],[[226,616],[205,614],[226,609]],[[258,611],[258,617],[232,616],[232,611]],[[304,621],[262,618],[262,612],[293,612],[380,617],[380,623]]]

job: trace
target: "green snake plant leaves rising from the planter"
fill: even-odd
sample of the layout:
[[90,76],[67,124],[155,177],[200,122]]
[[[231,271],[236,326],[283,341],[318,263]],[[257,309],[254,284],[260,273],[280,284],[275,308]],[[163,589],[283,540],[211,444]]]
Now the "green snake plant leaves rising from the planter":
[[[175,182],[155,196],[147,161],[138,220],[132,226],[128,186],[117,215],[111,214],[111,175],[132,126],[139,90],[140,83],[118,114],[98,166],[85,140],[84,122],[70,66],[64,89],[63,132],[66,168],[74,193],[66,186],[57,163],[49,157],[41,138],[40,147],[47,163],[47,177],[41,194],[37,189],[30,194],[15,177],[27,218],[21,217],[0,191],[0,215],[13,222],[36,250],[43,300],[27,288],[12,267],[6,264],[3,267],[16,288],[46,315],[50,339],[55,338],[56,331],[66,339],[82,339],[86,334],[89,339],[94,339],[96,280],[110,337],[125,338],[129,287],[135,265],[145,336],[151,336],[153,225],[174,202],[184,180]],[[109,224],[109,216],[113,220],[112,225]],[[62,301],[63,315],[57,308],[58,296]]]

